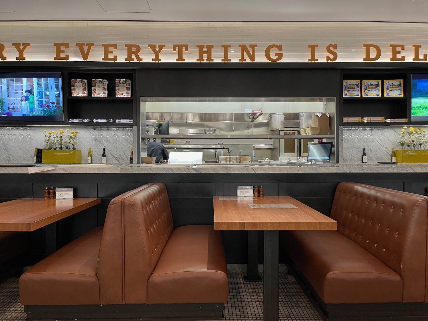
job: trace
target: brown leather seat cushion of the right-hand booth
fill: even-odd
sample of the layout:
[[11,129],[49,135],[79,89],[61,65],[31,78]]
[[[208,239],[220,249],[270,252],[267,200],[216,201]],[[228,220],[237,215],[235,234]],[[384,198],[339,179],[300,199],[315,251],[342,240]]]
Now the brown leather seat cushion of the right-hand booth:
[[401,276],[336,231],[286,231],[281,242],[324,302],[403,300]]

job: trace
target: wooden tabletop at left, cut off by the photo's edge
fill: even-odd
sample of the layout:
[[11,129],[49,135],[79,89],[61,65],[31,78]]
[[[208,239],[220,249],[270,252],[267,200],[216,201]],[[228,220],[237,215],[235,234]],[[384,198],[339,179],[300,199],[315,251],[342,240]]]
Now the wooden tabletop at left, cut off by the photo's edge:
[[100,198],[15,199],[0,203],[0,231],[31,232],[97,205]]

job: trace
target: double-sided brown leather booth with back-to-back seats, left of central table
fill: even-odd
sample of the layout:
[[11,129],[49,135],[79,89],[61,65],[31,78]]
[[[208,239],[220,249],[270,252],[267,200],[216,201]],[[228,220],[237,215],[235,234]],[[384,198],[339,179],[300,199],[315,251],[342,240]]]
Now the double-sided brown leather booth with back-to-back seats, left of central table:
[[228,275],[220,231],[173,228],[163,183],[110,202],[92,229],[27,270],[28,320],[222,318]]

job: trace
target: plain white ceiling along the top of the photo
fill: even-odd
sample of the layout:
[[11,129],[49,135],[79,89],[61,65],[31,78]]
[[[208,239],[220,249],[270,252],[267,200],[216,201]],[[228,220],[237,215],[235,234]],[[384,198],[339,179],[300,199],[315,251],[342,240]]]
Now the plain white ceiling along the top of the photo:
[[0,0],[0,21],[30,20],[428,23],[428,0]]

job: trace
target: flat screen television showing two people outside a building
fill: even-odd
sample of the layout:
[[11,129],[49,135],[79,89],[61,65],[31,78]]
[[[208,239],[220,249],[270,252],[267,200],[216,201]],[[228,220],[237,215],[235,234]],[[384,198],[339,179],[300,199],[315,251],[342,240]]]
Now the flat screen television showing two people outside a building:
[[64,121],[61,73],[0,73],[0,122],[5,121]]

